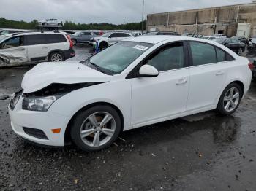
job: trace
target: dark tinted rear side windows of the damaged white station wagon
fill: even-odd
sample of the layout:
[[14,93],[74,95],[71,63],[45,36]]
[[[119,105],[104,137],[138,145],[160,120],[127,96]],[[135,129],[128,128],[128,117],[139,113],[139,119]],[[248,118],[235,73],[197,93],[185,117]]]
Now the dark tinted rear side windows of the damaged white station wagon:
[[61,34],[32,34],[26,35],[26,45],[53,44],[67,42],[64,35]]

